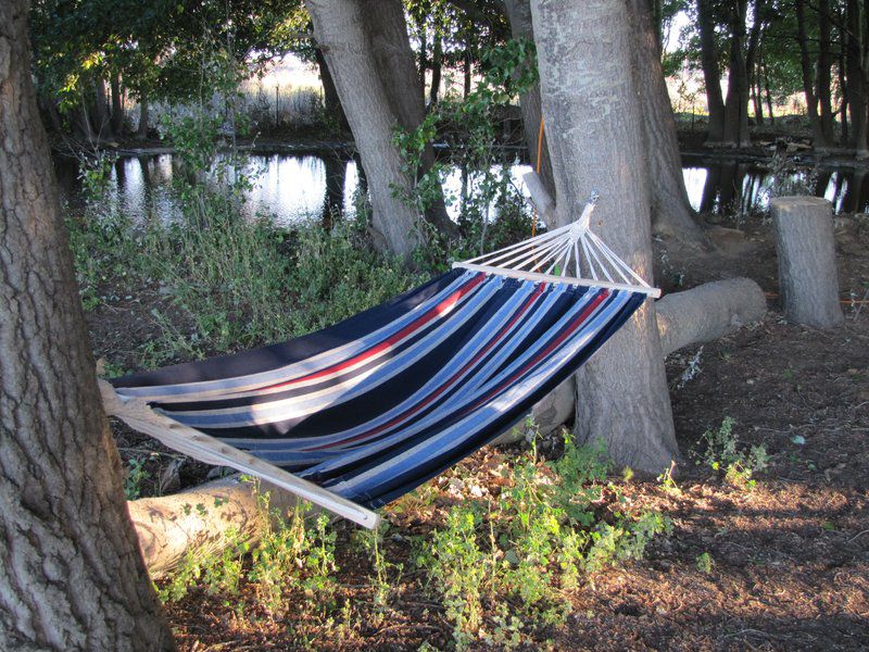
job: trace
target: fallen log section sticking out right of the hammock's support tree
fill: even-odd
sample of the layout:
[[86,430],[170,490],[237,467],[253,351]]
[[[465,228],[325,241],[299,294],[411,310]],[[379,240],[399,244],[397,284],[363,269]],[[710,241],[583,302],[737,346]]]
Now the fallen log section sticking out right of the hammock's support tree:
[[767,300],[752,279],[728,278],[667,294],[655,308],[660,347],[669,355],[759,321],[767,312]]

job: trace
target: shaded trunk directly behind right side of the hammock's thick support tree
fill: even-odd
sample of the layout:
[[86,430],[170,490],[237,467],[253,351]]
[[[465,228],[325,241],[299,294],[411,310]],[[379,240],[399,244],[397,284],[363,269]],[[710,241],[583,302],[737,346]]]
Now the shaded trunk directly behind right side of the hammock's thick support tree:
[[688,201],[676,117],[664,80],[648,0],[629,0],[628,16],[631,18],[632,68],[640,95],[653,229],[692,247],[708,247]]

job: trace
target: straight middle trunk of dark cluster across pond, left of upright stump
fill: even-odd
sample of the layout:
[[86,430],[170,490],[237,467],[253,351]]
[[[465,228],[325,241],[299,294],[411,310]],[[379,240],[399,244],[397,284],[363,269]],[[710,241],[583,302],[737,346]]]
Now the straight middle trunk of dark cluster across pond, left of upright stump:
[[725,100],[725,133],[721,141],[730,147],[747,147],[748,139],[748,74],[745,52],[745,18],[747,0],[736,0],[730,9],[730,71]]

